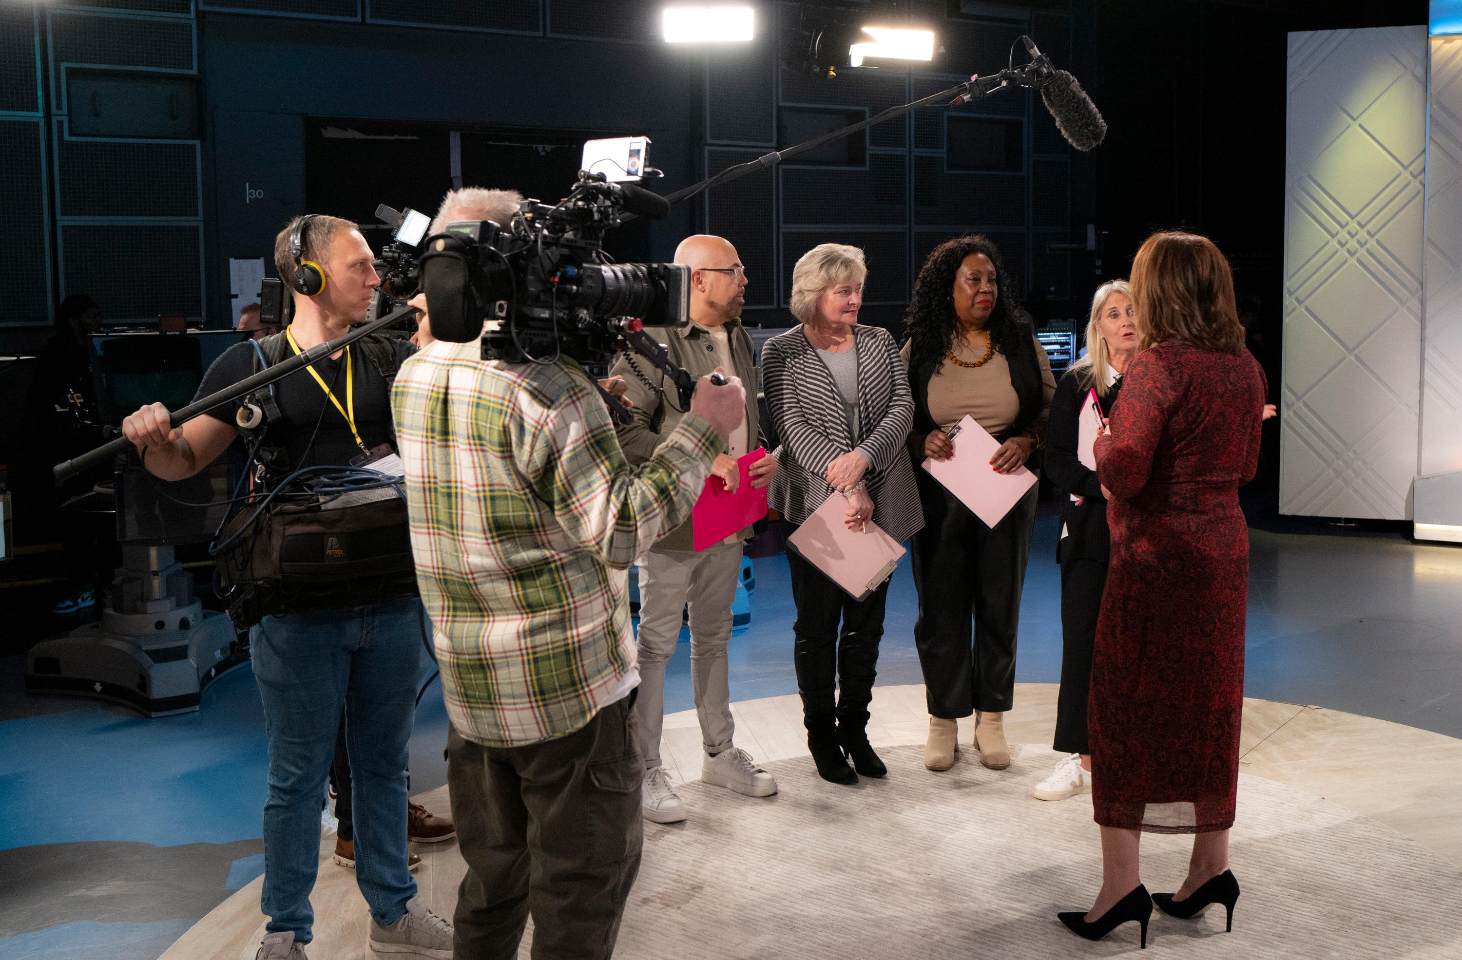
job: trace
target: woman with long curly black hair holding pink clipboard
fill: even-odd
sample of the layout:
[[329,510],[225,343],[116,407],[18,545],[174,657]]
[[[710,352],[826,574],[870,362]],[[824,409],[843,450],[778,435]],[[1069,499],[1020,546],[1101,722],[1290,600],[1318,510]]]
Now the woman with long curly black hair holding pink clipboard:
[[[914,282],[904,361],[914,392],[915,462],[950,457],[946,430],[966,414],[1000,441],[990,460],[994,471],[1010,473],[1041,447],[1056,393],[1051,362],[988,238],[956,237],[928,254]],[[1015,639],[1037,488],[988,527],[927,471],[914,475],[924,507],[924,529],[912,544],[914,643],[930,713],[924,766],[955,766],[958,720],[974,713],[980,761],[1003,770],[1010,766],[1003,722],[1015,700]]]

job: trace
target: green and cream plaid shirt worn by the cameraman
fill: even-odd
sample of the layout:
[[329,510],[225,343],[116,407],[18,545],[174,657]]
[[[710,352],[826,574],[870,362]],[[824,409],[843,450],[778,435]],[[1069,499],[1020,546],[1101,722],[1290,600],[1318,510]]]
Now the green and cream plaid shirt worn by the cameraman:
[[487,747],[580,729],[633,682],[626,571],[690,516],[721,437],[687,416],[632,468],[577,365],[477,342],[406,359],[392,403],[452,725]]

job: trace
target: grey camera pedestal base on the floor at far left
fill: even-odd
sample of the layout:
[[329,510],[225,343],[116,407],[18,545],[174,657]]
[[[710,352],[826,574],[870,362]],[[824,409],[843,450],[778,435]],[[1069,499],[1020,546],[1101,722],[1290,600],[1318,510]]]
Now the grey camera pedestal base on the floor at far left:
[[25,688],[170,716],[197,710],[203,690],[247,659],[234,622],[203,609],[171,546],[123,546],[101,621],[32,647]]

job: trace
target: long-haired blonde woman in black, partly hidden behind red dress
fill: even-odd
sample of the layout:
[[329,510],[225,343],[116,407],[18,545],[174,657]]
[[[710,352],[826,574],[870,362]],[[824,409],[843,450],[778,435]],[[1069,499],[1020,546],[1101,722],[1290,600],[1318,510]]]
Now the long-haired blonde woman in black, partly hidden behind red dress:
[[[1086,739],[1086,693],[1092,672],[1096,614],[1107,584],[1107,489],[1096,471],[1080,460],[1080,411],[1095,392],[1105,416],[1121,393],[1121,374],[1137,354],[1132,288],[1111,281],[1096,288],[1086,320],[1086,355],[1072,364],[1051,397],[1045,431],[1045,471],[1056,485],[1061,532],[1056,558],[1061,564],[1061,690],[1056,703],[1054,748],[1066,757],[1031,789],[1042,801],[1060,801],[1092,789]],[[1088,414],[1092,415],[1092,414]]]

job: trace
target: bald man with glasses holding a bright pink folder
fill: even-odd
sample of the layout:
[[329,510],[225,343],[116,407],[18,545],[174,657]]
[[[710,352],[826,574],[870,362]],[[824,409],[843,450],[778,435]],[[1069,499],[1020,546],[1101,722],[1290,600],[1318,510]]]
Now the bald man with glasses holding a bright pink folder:
[[[721,237],[687,237],[675,248],[675,263],[692,267],[690,323],[683,329],[648,327],[656,342],[670,349],[670,359],[693,377],[724,370],[746,386],[746,418],[727,449],[711,468],[730,489],[740,481],[737,457],[760,446],[757,422],[757,371],[751,361],[751,338],[741,327],[746,304],[746,267],[735,247]],[[630,463],[654,456],[661,440],[680,422],[684,411],[674,390],[661,389],[659,371],[648,361],[623,354],[613,374],[624,378],[633,402],[635,422],[621,427],[620,446]],[[776,476],[776,457],[766,456],[751,468],[751,485],[766,487]],[[635,704],[639,720],[645,780],[642,812],[654,823],[686,818],[686,807],[661,766],[659,739],[665,715],[665,662],[675,653],[681,611],[690,608],[690,672],[700,720],[705,761],[700,779],[746,796],[776,793],[776,780],[757,767],[744,750],[732,744],[727,643],[731,640],[731,603],[741,571],[741,542],[747,527],[699,552],[693,546],[692,522],[671,530],[636,563],[639,568],[640,691]]]

